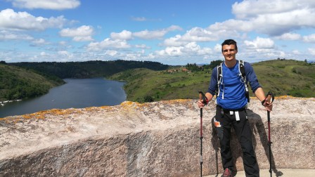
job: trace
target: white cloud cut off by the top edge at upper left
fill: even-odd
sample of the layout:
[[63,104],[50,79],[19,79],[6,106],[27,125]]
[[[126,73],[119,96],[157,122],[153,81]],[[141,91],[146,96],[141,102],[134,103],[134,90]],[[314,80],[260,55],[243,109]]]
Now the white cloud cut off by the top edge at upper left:
[[53,10],[64,10],[77,8],[81,3],[78,0],[8,0],[18,8],[44,8]]

